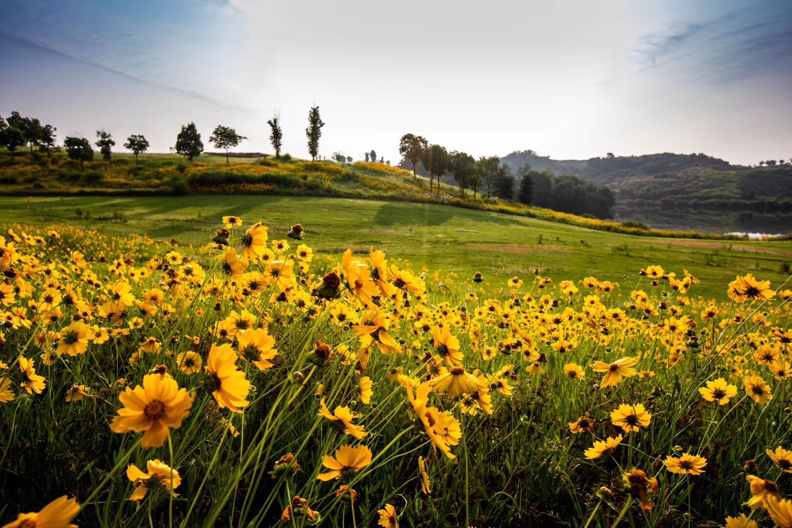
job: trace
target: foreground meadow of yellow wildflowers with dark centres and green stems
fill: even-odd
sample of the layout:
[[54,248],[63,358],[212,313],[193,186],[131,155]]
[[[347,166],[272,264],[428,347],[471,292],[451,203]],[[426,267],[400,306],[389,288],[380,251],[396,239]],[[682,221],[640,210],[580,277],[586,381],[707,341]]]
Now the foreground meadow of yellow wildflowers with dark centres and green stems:
[[792,285],[310,239],[6,226],[0,524],[792,527]]

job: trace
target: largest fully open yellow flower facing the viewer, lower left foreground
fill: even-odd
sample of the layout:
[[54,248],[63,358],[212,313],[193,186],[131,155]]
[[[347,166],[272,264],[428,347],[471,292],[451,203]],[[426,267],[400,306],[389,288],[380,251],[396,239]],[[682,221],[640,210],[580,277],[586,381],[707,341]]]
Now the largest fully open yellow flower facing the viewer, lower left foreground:
[[115,433],[143,432],[140,446],[159,447],[168,436],[168,428],[178,429],[190,413],[192,397],[187,389],[179,389],[173,378],[159,374],[143,376],[143,386],[127,387],[118,395],[124,407],[112,419]]

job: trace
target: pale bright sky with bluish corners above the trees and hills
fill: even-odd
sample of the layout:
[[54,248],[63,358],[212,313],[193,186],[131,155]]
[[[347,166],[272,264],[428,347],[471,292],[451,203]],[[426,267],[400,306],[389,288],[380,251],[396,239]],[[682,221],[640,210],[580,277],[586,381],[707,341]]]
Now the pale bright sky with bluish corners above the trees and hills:
[[786,0],[4,0],[0,116],[16,110],[123,150],[181,125],[271,153],[376,150],[411,132],[478,156],[676,152],[792,157]]

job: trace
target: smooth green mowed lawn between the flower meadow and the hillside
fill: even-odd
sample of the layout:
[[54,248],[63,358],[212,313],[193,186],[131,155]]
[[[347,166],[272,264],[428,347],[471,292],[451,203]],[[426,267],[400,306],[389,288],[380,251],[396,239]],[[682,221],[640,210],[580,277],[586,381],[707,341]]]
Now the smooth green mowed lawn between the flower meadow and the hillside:
[[70,224],[194,245],[209,241],[223,215],[240,216],[245,226],[262,220],[271,239],[284,238],[289,226],[302,223],[305,242],[318,253],[340,256],[348,247],[367,253],[374,245],[417,270],[440,269],[460,278],[480,271],[492,285],[514,275],[530,281],[539,268],[556,281],[590,275],[615,281],[626,293],[649,288],[638,271],[660,264],[678,275],[685,268],[701,279],[691,294],[725,298],[737,273],[752,272],[775,286],[789,278],[792,264],[790,241],[636,237],[434,204],[290,196],[86,196],[34,197],[28,209],[27,198],[0,198],[0,223],[6,225]]

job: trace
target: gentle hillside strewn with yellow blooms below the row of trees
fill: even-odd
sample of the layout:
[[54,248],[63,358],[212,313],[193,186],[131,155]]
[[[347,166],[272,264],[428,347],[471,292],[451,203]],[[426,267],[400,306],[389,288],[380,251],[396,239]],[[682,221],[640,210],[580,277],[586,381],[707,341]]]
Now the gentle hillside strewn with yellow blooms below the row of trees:
[[[562,222],[595,230],[643,236],[709,237],[693,230],[663,231],[645,226],[551,211],[504,199],[482,198],[459,188],[435,184],[382,163],[338,163],[283,158],[242,158],[230,164],[217,156],[188,162],[173,154],[149,154],[135,163],[131,155],[112,161],[77,161],[61,156],[0,156],[0,195],[5,196],[186,196],[280,195],[334,196],[440,203]],[[716,236],[716,238],[724,238]],[[734,238],[734,237],[731,237]]]

